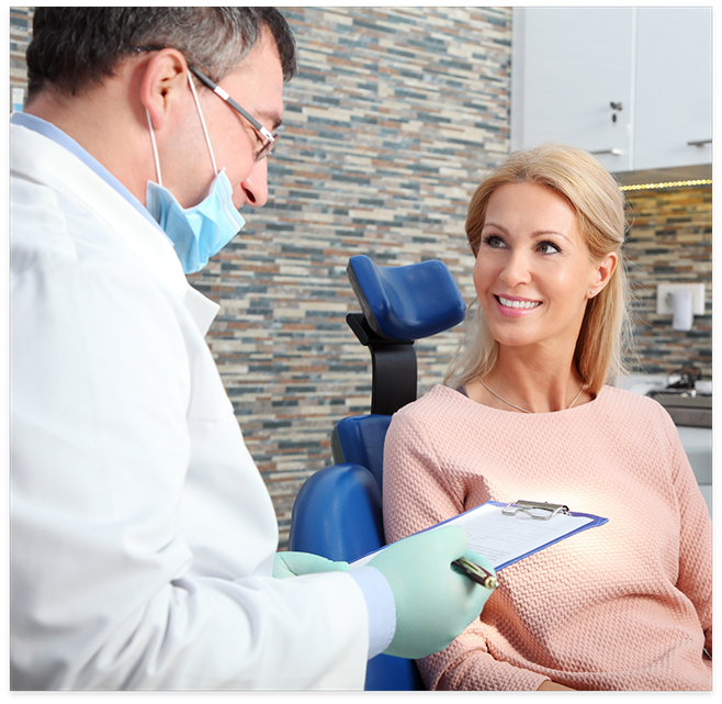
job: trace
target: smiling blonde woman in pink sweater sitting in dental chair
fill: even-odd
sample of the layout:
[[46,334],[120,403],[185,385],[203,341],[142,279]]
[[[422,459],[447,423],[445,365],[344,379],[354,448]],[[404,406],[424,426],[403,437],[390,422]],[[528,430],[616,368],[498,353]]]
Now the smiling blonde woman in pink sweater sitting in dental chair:
[[709,512],[672,418],[609,385],[624,231],[612,177],[564,145],[511,154],[472,198],[477,303],[444,385],[392,421],[386,537],[489,500],[609,522],[504,569],[481,618],[419,661],[430,689],[711,688]]

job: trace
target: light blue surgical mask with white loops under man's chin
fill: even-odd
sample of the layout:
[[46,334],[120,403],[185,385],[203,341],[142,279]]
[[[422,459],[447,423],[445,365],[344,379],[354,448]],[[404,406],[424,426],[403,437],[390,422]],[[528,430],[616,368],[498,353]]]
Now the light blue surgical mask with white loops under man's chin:
[[198,205],[182,208],[176,197],[163,188],[156,136],[153,132],[150,115],[146,110],[153,154],[156,160],[156,174],[158,175],[158,183],[148,181],[146,186],[146,208],[173,243],[183,271],[194,273],[200,271],[214,254],[223,249],[238,234],[246,221],[233,204],[233,188],[225,168],[221,171],[216,168],[211,139],[190,74],[188,81],[201,116],[203,134],[216,176],[211,183],[208,194]]

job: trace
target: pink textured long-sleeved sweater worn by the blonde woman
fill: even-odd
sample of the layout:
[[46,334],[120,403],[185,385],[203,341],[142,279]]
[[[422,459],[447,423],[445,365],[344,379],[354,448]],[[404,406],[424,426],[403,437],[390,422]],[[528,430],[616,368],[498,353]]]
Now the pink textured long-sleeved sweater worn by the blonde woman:
[[447,387],[394,415],[384,455],[388,541],[488,500],[564,503],[609,518],[499,572],[499,589],[444,651],[429,689],[712,686],[712,525],[672,418],[605,387],[527,415]]

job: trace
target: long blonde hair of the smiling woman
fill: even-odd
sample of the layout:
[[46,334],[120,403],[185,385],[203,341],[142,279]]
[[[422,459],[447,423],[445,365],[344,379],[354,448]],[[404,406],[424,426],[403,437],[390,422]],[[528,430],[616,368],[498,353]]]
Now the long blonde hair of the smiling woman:
[[[631,340],[628,311],[629,281],[622,258],[627,232],[624,195],[612,176],[588,152],[564,144],[544,144],[512,152],[476,189],[469,205],[466,237],[478,255],[482,228],[492,193],[509,183],[540,183],[564,195],[577,215],[579,232],[587,241],[589,257],[597,261],[610,253],[617,268],[607,286],[589,299],[584,314],[574,361],[593,395],[624,372],[622,354]],[[499,344],[486,324],[478,301],[466,312],[467,331],[443,382],[466,384],[488,373],[498,359]]]

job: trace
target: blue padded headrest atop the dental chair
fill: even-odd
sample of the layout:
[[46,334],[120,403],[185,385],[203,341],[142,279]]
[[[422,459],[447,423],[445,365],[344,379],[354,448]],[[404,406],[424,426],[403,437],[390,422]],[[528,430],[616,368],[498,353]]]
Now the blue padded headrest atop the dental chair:
[[371,328],[392,339],[420,339],[458,325],[466,304],[438,259],[383,267],[364,255],[349,259],[351,288]]

